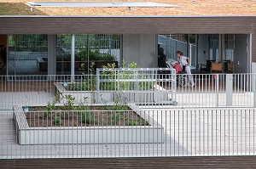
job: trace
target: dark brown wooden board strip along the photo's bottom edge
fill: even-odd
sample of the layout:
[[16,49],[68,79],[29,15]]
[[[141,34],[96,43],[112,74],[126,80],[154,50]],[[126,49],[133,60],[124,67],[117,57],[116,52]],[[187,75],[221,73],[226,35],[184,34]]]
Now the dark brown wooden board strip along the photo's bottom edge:
[[73,159],[21,159],[1,160],[0,168],[255,168],[255,155],[232,156],[178,156],[154,158],[73,158]]

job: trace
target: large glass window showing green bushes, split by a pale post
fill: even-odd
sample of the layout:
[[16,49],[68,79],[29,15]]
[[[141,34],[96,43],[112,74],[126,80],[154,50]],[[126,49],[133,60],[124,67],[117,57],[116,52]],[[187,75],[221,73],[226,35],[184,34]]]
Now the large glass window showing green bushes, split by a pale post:
[[[70,75],[71,35],[57,35],[56,45],[56,72]],[[118,67],[119,53],[119,35],[75,35],[75,74],[89,73],[92,64],[94,70],[107,63],[115,63]]]

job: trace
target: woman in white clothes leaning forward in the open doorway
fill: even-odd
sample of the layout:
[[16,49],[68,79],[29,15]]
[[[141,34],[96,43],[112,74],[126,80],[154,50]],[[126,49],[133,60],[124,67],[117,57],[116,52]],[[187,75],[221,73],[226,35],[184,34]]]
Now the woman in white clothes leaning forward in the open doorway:
[[193,76],[191,75],[189,57],[183,56],[183,53],[181,51],[177,51],[176,54],[179,64],[182,66],[183,70],[185,70],[186,73],[188,74],[189,83],[187,82],[187,85],[189,85],[190,87],[194,87],[195,82],[193,81]]

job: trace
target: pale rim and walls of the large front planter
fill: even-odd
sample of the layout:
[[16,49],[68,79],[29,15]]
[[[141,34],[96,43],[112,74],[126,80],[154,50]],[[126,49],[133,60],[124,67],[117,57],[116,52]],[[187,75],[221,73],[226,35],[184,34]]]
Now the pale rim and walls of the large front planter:
[[[29,127],[22,106],[14,106],[13,118],[19,144],[143,144],[163,143],[164,128],[146,112],[131,104],[148,126]],[[37,113],[37,112],[34,112]]]

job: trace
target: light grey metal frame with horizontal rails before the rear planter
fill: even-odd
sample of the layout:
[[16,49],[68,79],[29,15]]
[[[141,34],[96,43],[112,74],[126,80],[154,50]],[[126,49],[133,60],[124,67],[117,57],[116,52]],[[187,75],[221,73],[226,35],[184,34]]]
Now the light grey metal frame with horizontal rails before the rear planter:
[[[168,68],[97,69],[96,103],[173,104],[176,74]],[[173,101],[170,101],[173,100]]]

